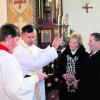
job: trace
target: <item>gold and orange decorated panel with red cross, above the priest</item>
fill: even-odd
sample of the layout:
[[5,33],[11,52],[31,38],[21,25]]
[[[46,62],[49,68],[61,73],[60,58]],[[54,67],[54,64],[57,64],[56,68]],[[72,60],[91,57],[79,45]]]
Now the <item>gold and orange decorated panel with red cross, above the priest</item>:
[[33,3],[35,2],[32,0],[8,0],[8,22],[19,28],[28,23],[33,24]]

